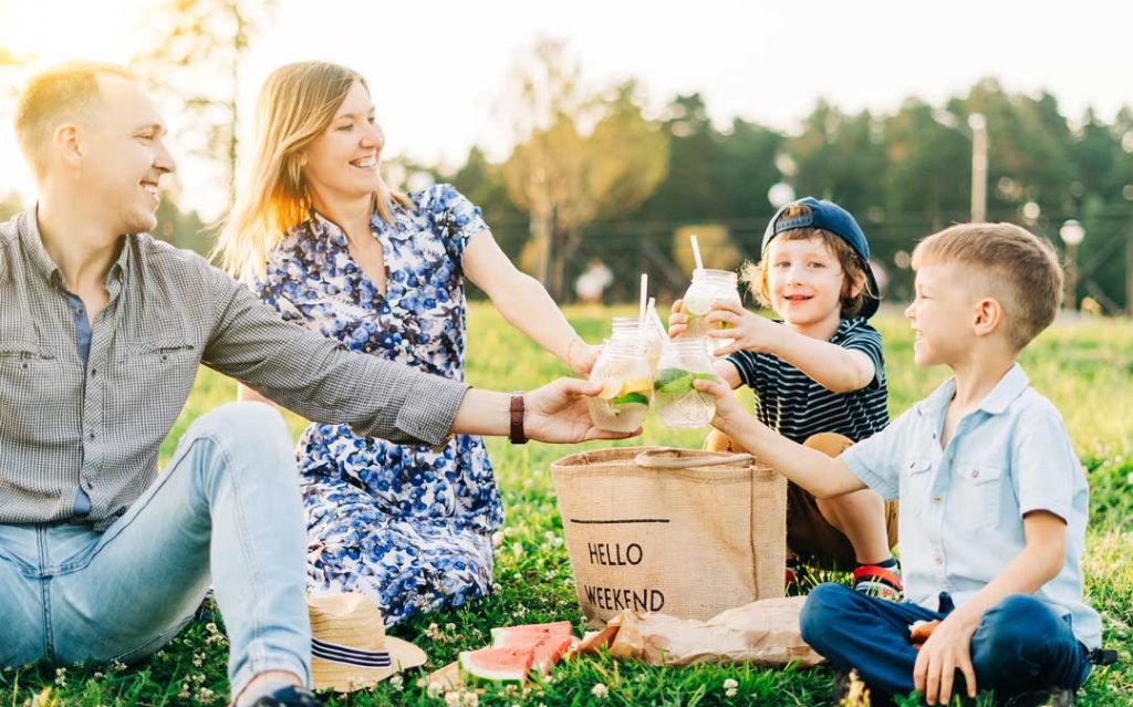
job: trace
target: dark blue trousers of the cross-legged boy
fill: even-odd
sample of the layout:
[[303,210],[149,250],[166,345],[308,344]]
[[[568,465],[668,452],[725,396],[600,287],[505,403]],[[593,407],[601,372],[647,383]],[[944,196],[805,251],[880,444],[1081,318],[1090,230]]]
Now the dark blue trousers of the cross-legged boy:
[[[888,695],[913,691],[917,649],[909,624],[944,619],[952,598],[940,594],[939,612],[910,603],[866,596],[844,585],[819,585],[807,597],[802,638],[835,667],[858,674],[871,689]],[[989,608],[972,636],[977,687],[1011,697],[1028,690],[1076,690],[1090,674],[1089,651],[1074,638],[1068,619],[1025,594],[1008,596]],[[953,691],[963,693],[957,673]]]

